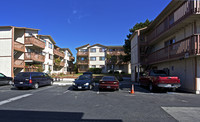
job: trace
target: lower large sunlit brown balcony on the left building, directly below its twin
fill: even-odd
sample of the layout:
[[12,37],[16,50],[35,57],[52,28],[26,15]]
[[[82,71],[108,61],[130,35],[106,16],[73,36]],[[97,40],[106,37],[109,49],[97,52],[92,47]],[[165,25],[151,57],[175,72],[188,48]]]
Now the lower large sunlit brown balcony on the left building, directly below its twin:
[[44,62],[45,61],[45,56],[40,55],[40,54],[36,54],[34,52],[30,52],[30,53],[25,53],[24,59],[25,60],[31,60],[31,62],[33,62],[33,61],[35,61],[35,62]]

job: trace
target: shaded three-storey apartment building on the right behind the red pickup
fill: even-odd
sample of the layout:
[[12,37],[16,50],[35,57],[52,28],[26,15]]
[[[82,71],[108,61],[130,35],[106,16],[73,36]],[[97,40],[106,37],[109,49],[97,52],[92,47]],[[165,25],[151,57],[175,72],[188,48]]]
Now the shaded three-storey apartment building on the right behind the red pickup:
[[132,80],[139,72],[164,69],[181,89],[200,93],[200,1],[172,0],[147,27],[131,37]]

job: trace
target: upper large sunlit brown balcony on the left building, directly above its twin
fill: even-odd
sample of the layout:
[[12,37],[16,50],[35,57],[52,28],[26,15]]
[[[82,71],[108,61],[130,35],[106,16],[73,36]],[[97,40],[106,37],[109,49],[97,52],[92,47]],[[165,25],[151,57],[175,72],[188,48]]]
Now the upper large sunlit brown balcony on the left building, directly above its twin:
[[34,46],[34,47],[42,48],[42,49],[45,48],[45,43],[35,37],[25,37],[25,45]]

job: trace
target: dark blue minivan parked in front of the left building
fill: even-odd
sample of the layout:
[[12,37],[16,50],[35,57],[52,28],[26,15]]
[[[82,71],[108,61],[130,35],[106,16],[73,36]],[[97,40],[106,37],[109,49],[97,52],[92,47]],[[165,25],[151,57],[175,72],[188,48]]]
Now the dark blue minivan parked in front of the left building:
[[37,89],[40,86],[52,84],[53,79],[42,72],[20,72],[14,77],[14,86],[18,89],[24,87]]

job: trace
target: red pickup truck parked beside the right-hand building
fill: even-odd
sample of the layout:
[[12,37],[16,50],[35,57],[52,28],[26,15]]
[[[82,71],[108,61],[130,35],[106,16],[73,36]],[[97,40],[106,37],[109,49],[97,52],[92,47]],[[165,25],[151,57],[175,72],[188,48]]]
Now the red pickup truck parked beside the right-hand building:
[[143,73],[139,78],[139,84],[148,86],[149,91],[153,91],[155,88],[166,88],[175,91],[181,86],[178,77],[168,76],[164,70],[150,70]]

